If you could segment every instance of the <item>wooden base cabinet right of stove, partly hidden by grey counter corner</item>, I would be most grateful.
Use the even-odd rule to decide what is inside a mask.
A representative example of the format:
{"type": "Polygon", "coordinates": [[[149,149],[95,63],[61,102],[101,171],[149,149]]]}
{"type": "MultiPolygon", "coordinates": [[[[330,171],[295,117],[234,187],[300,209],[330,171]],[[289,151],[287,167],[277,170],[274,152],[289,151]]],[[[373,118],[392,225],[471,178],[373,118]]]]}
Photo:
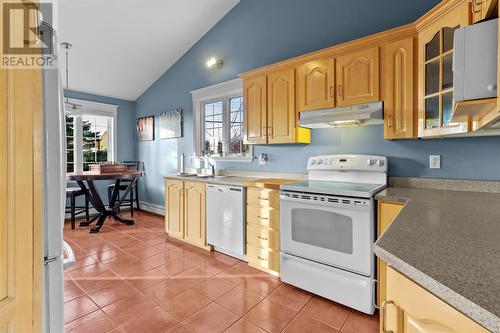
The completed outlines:
{"type": "MultiPolygon", "coordinates": [[[[379,238],[382,233],[389,227],[389,225],[391,225],[392,221],[399,214],[402,208],[403,204],[379,201],[377,216],[377,238],[379,238]]],[[[387,264],[383,260],[377,259],[377,304],[379,306],[385,301],[386,276],[387,264]]]]}

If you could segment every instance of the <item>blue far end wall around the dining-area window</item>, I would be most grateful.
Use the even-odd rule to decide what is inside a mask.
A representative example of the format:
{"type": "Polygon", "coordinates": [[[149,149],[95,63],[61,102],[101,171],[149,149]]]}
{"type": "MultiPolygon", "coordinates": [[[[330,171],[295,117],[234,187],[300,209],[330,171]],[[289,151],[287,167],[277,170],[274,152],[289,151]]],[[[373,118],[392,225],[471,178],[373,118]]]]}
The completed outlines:
{"type": "MultiPolygon", "coordinates": [[[[137,146],[135,140],[135,104],[117,98],[104,97],[99,95],[87,94],[78,91],[65,90],[64,95],[69,98],[78,98],[92,102],[100,102],[118,105],[117,111],[117,152],[116,158],[119,161],[134,161],[137,158],[137,146]]],[[[96,187],[101,194],[104,202],[108,201],[106,186],[110,182],[97,182],[96,187]]],[[[81,204],[79,202],[78,204],[81,204]]]]}

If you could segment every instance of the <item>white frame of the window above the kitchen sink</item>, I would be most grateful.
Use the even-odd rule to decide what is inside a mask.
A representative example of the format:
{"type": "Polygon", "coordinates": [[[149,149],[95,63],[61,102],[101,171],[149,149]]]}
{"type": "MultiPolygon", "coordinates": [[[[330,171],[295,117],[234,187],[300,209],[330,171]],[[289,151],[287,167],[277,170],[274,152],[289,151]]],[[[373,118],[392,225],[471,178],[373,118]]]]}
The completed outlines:
{"type": "MultiPolygon", "coordinates": [[[[234,79],[209,87],[191,91],[193,98],[193,158],[199,160],[214,160],[221,162],[246,162],[251,163],[253,157],[253,145],[249,145],[248,156],[226,155],[226,156],[204,156],[204,137],[205,137],[205,104],[222,101],[223,102],[223,128],[224,128],[224,154],[228,153],[230,138],[230,100],[243,97],[243,83],[241,79],[234,79]]],[[[243,109],[243,113],[245,109],[243,109]]],[[[243,116],[244,118],[244,116],[243,116]]]]}

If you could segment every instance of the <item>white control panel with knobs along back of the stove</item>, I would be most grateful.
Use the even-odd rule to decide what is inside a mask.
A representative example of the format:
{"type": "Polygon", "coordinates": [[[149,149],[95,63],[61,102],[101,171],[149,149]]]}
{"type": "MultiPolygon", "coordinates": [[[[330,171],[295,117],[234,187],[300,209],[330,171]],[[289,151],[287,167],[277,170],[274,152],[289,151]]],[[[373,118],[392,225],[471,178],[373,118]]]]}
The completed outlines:
{"type": "Polygon", "coordinates": [[[373,155],[321,155],[310,157],[307,170],[387,172],[387,157],[373,155]]]}

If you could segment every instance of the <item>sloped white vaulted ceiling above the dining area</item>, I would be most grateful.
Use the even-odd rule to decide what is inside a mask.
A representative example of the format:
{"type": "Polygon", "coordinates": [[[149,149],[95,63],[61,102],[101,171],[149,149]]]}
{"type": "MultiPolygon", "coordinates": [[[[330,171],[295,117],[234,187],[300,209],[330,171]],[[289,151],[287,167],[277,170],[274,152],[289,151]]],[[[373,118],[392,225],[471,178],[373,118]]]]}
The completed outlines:
{"type": "Polygon", "coordinates": [[[137,99],[238,1],[60,0],[70,89],[137,99]]]}

